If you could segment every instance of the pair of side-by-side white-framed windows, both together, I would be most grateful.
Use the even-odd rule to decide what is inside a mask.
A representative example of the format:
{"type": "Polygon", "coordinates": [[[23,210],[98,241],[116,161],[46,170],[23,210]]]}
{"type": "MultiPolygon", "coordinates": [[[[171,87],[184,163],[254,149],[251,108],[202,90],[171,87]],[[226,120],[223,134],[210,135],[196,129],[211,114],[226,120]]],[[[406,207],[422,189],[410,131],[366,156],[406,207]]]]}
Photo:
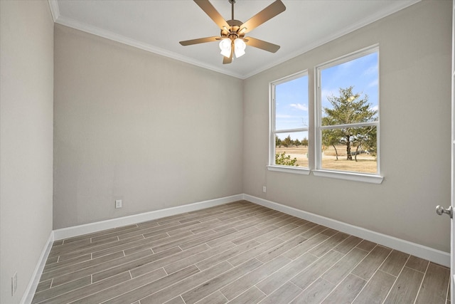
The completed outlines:
{"type": "Polygon", "coordinates": [[[314,70],[314,88],[306,72],[270,84],[269,170],[382,182],[379,47],[314,70]]]}

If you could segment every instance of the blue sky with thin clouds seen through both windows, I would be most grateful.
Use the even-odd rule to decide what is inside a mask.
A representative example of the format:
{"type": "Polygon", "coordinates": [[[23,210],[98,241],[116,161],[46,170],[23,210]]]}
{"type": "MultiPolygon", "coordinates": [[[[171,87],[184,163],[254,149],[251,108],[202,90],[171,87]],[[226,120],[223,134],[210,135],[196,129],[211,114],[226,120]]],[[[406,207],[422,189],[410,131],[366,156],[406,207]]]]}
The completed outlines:
{"type": "MultiPolygon", "coordinates": [[[[353,85],[353,93],[360,93],[362,98],[363,95],[368,95],[370,107],[373,110],[378,110],[378,77],[378,52],[322,70],[322,106],[325,108],[331,106],[328,103],[327,96],[337,96],[340,88],[348,88],[353,85]]],[[[275,130],[309,127],[307,75],[277,85],[275,96],[277,117],[275,130]]],[[[278,136],[283,139],[289,134],[287,132],[278,136]]],[[[293,140],[302,139],[302,133],[290,135],[293,140]]]]}

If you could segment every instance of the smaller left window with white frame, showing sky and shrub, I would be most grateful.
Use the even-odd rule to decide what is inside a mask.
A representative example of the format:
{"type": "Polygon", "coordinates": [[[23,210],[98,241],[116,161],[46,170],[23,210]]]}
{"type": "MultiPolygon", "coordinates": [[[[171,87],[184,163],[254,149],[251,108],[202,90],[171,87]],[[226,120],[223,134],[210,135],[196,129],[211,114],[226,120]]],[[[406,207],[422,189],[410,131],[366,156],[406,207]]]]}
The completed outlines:
{"type": "Polygon", "coordinates": [[[272,132],[270,164],[308,169],[309,111],[306,72],[277,80],[271,85],[272,132]]]}

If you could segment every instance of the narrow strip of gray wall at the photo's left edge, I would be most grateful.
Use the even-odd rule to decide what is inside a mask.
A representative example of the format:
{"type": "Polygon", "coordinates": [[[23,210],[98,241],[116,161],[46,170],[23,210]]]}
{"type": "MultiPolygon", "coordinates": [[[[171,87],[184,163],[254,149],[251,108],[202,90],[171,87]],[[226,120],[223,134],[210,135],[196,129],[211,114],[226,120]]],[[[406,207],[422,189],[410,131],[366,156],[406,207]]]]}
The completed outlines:
{"type": "Polygon", "coordinates": [[[52,231],[53,19],[0,1],[0,303],[19,303],[52,231]],[[11,277],[18,289],[11,297],[11,277]]]}

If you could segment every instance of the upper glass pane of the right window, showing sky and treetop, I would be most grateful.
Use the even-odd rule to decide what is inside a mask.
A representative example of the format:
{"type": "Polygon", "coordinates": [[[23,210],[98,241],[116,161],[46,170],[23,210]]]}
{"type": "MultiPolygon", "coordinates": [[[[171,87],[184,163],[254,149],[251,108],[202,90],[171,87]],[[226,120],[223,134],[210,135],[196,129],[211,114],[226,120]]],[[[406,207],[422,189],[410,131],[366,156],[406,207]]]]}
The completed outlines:
{"type": "Polygon", "coordinates": [[[321,125],[378,120],[378,52],[321,70],[321,125]]]}

